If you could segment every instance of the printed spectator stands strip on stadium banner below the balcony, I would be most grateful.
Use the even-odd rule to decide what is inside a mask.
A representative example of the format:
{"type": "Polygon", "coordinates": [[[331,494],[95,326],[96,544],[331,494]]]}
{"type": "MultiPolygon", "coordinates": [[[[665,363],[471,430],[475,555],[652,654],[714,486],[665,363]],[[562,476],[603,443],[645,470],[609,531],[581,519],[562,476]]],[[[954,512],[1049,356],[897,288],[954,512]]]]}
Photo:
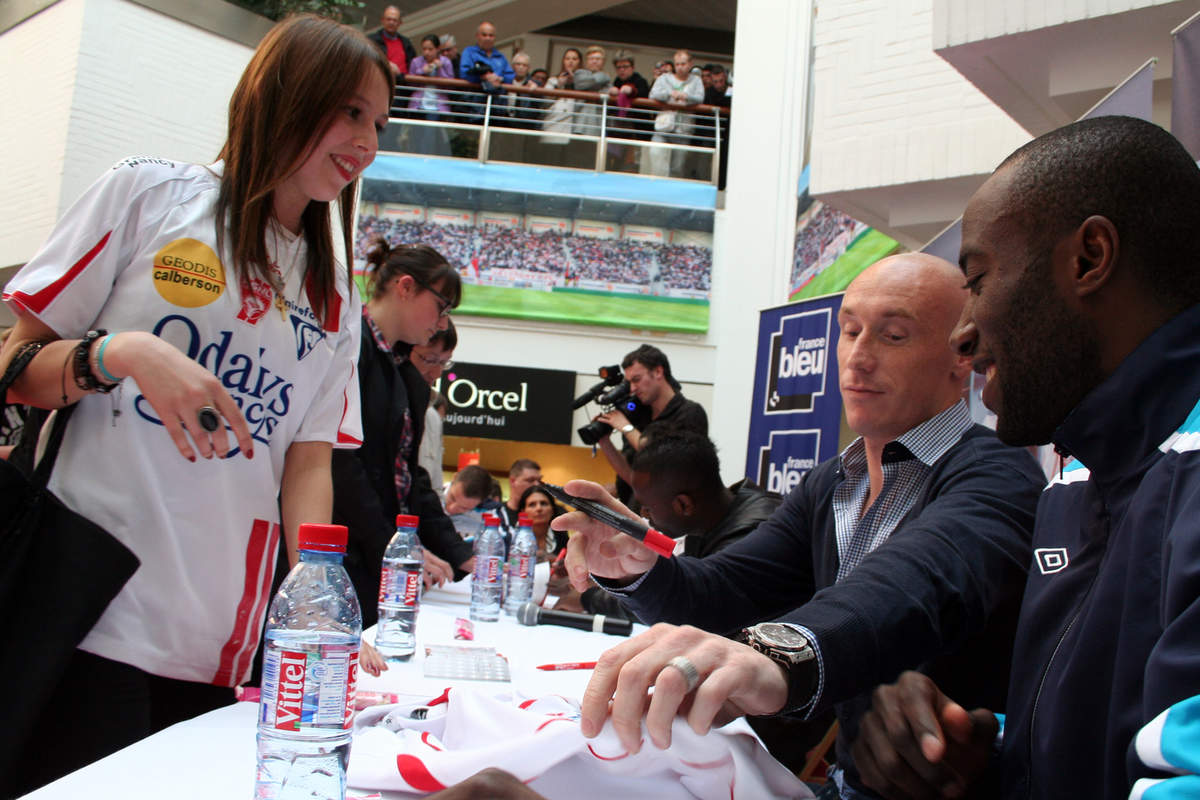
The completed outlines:
{"type": "Polygon", "coordinates": [[[667,289],[708,291],[713,255],[696,245],[659,245],[631,239],[596,239],[557,230],[528,231],[498,225],[406,222],[372,215],[359,218],[356,257],[365,258],[372,236],[389,243],[428,245],[460,272],[518,269],[560,276],[563,283],[580,279],[667,289]]]}

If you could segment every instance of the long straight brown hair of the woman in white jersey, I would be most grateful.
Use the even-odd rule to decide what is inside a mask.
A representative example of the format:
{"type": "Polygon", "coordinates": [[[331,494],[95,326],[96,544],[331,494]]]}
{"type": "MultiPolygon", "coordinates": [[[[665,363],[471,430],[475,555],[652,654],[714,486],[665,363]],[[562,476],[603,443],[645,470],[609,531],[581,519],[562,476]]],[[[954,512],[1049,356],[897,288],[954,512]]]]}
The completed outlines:
{"type": "MultiPolygon", "coordinates": [[[[282,289],[266,249],[274,192],[304,164],[370,70],[384,76],[391,97],[395,79],[383,52],[361,31],[313,14],[288,17],[254,50],[229,98],[216,207],[217,247],[224,252],[229,242],[242,282],[253,276],[282,289]]],[[[355,196],[356,182],[338,196],[348,276],[355,196]]],[[[324,319],[336,291],[329,203],[311,200],[300,227],[308,246],[305,285],[313,313],[324,319]]],[[[330,321],[336,323],[326,320],[326,326],[330,321]]]]}

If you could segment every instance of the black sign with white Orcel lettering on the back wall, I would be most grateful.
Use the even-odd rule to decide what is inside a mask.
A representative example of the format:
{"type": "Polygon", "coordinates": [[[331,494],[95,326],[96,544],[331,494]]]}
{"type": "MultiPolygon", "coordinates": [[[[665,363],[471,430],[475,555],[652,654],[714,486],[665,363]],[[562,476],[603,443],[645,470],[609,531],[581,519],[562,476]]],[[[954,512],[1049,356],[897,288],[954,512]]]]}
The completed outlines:
{"type": "Polygon", "coordinates": [[[574,372],[455,361],[433,387],[449,405],[444,435],[571,443],[574,372]]]}

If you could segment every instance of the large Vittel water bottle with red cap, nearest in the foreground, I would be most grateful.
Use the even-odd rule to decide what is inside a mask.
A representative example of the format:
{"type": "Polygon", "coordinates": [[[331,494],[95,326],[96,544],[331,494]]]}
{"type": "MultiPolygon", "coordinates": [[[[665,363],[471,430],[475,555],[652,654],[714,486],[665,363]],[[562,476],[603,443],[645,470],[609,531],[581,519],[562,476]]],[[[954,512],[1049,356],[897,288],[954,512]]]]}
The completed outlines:
{"type": "Polygon", "coordinates": [[[300,525],[300,563],[266,618],[256,800],[346,798],[362,612],[344,525],[300,525]]]}

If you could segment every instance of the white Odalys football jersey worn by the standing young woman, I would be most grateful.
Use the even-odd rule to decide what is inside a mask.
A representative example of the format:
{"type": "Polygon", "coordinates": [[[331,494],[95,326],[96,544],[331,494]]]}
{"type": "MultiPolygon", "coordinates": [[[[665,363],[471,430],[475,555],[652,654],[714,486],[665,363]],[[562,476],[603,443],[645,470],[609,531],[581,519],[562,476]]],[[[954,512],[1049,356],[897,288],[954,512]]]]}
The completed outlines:
{"type": "Polygon", "coordinates": [[[220,169],[120,162],[67,211],[5,300],[64,338],[152,331],[217,374],[240,404],[253,459],[190,463],[126,379],[119,392],[79,402],[50,482],[142,560],[80,646],[154,674],[233,686],[248,673],[270,601],[288,445],[361,440],[360,301],[338,265],[337,295],[318,319],[302,285],[302,237],[282,230],[266,235],[287,281],[282,311],[266,282],[244,293],[230,259],[215,252],[220,169]]]}

